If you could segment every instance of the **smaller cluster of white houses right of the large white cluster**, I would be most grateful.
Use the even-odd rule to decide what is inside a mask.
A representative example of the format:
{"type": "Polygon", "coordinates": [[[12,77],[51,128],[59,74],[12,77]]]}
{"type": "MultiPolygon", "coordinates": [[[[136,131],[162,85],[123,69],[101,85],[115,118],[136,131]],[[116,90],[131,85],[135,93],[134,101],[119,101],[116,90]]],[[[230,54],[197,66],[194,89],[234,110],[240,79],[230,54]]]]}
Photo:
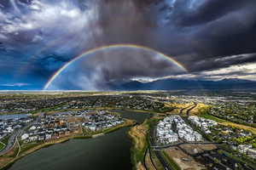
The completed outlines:
{"type": "Polygon", "coordinates": [[[211,133],[209,127],[217,126],[218,123],[209,119],[205,119],[198,116],[189,116],[189,121],[195,124],[196,127],[200,127],[204,133],[211,133]]]}

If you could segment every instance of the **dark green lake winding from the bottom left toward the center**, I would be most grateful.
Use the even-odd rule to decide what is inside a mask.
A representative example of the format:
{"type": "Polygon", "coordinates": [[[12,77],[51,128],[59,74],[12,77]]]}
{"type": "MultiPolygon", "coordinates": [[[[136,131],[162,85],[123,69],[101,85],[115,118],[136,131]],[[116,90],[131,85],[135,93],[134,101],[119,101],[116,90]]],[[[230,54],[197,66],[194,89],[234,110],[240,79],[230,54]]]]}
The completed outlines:
{"type": "MultiPolygon", "coordinates": [[[[121,111],[125,118],[141,123],[149,115],[121,111]]],[[[28,155],[10,167],[10,170],[130,170],[131,140],[129,127],[108,133],[96,139],[72,139],[28,155]]]]}

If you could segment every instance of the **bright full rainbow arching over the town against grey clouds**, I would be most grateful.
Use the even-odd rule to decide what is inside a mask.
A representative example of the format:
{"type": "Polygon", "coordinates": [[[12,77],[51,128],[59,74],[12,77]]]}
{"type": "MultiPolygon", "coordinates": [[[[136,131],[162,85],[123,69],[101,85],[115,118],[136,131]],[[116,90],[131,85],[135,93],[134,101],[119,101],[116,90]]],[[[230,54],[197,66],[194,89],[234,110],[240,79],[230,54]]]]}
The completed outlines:
{"type": "Polygon", "coordinates": [[[163,56],[165,59],[168,59],[169,61],[171,61],[172,63],[174,63],[175,65],[177,65],[179,68],[181,68],[183,71],[188,72],[188,70],[185,68],[185,66],[183,66],[181,63],[179,63],[177,60],[172,59],[171,57],[167,56],[166,54],[162,54],[159,51],[156,51],[153,48],[148,48],[148,47],[144,47],[144,46],[140,46],[140,45],[134,45],[134,44],[114,44],[114,45],[108,45],[108,46],[102,46],[99,48],[92,48],[86,52],[84,52],[83,54],[80,54],[79,56],[75,57],[74,59],[70,60],[69,62],[67,62],[67,64],[63,65],[61,67],[61,69],[59,69],[58,71],[56,71],[52,77],[49,78],[49,81],[46,82],[46,84],[44,85],[44,90],[46,90],[47,88],[49,88],[49,85],[51,84],[51,82],[53,82],[55,80],[56,77],[58,77],[62,71],[64,71],[68,65],[72,65],[73,62],[77,61],[78,59],[83,58],[84,56],[88,55],[88,54],[93,54],[97,51],[100,50],[104,50],[104,49],[109,49],[109,48],[141,48],[143,50],[147,50],[149,52],[153,52],[155,54],[159,54],[160,56],[163,56]]]}

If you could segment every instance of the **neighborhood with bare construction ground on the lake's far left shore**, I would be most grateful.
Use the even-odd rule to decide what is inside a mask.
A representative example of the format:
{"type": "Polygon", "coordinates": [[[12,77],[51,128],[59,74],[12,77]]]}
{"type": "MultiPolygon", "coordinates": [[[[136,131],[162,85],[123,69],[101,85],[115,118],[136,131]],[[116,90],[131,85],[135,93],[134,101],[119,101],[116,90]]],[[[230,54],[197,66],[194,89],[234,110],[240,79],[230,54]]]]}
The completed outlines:
{"type": "Polygon", "coordinates": [[[90,131],[99,131],[125,122],[122,118],[110,115],[106,111],[65,111],[43,116],[21,135],[23,142],[59,139],[70,134],[82,133],[83,127],[90,131]]]}

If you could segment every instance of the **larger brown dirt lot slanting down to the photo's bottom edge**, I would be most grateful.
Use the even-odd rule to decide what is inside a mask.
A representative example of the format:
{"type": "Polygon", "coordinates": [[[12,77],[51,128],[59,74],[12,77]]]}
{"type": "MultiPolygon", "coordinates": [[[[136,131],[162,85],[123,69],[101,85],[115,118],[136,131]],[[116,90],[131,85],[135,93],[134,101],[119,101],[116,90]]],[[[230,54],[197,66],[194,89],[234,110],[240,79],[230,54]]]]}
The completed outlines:
{"type": "Polygon", "coordinates": [[[172,157],[173,161],[176,161],[177,165],[183,170],[201,170],[205,169],[204,166],[195,161],[193,157],[186,155],[182,150],[177,147],[172,147],[165,150],[168,156],[172,157]]]}

